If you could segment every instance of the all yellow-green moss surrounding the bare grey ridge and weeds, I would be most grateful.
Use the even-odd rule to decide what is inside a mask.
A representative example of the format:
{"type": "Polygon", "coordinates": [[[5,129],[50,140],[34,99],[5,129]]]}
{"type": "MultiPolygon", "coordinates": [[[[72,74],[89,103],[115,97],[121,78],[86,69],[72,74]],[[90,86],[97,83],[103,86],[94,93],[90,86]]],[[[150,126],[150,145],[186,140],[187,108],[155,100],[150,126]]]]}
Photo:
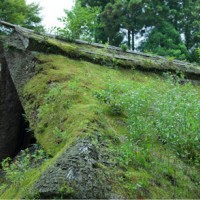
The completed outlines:
{"type": "MultiPolygon", "coordinates": [[[[49,42],[67,51],[70,57],[77,55],[77,47],[74,44],[59,44],[53,39],[49,42]]],[[[125,61],[121,64],[119,61],[118,64],[130,65],[130,70],[115,70],[59,55],[39,54],[37,58],[40,61],[36,66],[37,74],[24,87],[23,104],[37,142],[53,159],[40,168],[28,170],[20,188],[10,186],[0,195],[1,199],[28,197],[31,194],[29,188],[32,188],[40,175],[63,151],[78,138],[92,136],[96,132],[106,140],[110,154],[116,156],[113,158],[116,166],[110,168],[97,163],[97,167],[113,174],[117,181],[111,183],[119,195],[126,198],[173,198],[172,194],[175,194],[176,198],[199,197],[195,185],[199,179],[194,180],[197,169],[191,169],[188,173],[183,170],[186,165],[181,161],[169,167],[167,155],[172,153],[160,148],[157,143],[154,155],[157,160],[162,155],[161,165],[124,165],[123,158],[120,160],[120,149],[128,136],[126,115],[112,115],[108,107],[95,96],[96,92],[105,89],[109,83],[124,84],[134,90],[156,81],[157,87],[163,91],[163,80],[153,73],[133,70],[133,64],[125,61]],[[187,192],[188,189],[190,193],[187,192]]],[[[101,56],[93,59],[102,63],[108,62],[101,56]]],[[[93,143],[98,145],[95,140],[93,143]]],[[[67,185],[61,186],[60,190],[64,196],[70,196],[74,192],[67,185]]]]}

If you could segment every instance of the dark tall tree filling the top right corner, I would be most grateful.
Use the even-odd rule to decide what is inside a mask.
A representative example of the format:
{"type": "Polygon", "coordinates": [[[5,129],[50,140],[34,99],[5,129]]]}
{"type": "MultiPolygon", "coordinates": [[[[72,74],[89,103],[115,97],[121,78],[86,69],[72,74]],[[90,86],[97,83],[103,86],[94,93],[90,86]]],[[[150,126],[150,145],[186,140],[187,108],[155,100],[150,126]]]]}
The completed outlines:
{"type": "Polygon", "coordinates": [[[200,0],[146,0],[147,26],[157,27],[163,22],[174,26],[189,50],[199,41],[200,0]]]}

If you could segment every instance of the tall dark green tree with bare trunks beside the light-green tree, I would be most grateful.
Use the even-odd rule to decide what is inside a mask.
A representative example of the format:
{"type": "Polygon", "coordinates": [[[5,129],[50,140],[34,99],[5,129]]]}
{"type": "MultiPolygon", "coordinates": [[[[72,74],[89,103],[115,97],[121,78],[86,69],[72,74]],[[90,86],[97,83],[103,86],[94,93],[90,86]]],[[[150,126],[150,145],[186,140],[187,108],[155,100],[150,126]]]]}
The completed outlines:
{"type": "MultiPolygon", "coordinates": [[[[116,34],[120,30],[127,30],[128,46],[135,49],[135,34],[143,27],[142,0],[116,0],[114,4],[107,4],[101,14],[103,27],[109,36],[110,44],[116,43],[116,34]],[[132,41],[132,42],[131,42],[132,41]]],[[[118,40],[118,42],[122,42],[118,40]]]]}

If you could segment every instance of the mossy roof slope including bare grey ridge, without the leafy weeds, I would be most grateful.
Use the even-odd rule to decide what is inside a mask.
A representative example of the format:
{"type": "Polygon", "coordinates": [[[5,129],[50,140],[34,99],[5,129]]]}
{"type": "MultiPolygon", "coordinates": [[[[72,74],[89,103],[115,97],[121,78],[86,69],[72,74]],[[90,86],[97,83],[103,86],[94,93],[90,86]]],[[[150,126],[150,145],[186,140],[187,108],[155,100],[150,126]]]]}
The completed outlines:
{"type": "MultiPolygon", "coordinates": [[[[152,84],[163,90],[164,78],[59,55],[37,58],[37,75],[26,84],[23,97],[37,142],[51,158],[27,168],[22,179],[11,177],[1,199],[200,197],[198,167],[184,163],[158,139],[152,139],[153,159],[141,155],[139,164],[136,157],[126,162],[133,156],[131,147],[130,155],[124,155],[129,148],[123,149],[130,134],[126,113],[98,100],[105,88],[118,84],[132,91],[152,84]]],[[[111,98],[108,94],[105,102],[106,97],[111,98]]]]}

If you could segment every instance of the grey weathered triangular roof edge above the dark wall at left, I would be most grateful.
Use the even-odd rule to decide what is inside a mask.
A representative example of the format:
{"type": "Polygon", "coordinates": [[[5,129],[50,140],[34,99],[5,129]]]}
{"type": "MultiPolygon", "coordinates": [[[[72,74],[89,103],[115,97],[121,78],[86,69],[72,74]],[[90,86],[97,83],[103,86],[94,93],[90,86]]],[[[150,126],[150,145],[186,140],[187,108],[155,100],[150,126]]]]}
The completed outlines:
{"type": "Polygon", "coordinates": [[[26,49],[27,40],[18,33],[14,33],[7,38],[7,49],[5,49],[8,68],[21,101],[23,101],[21,97],[24,84],[35,75],[36,61],[32,52],[26,49]]]}

